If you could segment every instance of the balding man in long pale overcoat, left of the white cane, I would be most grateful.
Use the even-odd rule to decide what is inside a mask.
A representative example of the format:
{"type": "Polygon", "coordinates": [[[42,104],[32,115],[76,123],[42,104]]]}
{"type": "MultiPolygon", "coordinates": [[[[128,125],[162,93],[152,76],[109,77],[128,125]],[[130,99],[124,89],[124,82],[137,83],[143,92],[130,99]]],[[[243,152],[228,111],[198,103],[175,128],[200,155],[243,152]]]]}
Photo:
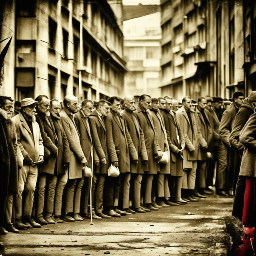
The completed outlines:
{"type": "MultiPolygon", "coordinates": [[[[87,160],[80,145],[80,135],[74,120],[78,112],[78,99],[74,95],[66,95],[63,100],[64,109],[60,112],[60,120],[66,133],[70,147],[70,163],[68,168],[68,182],[66,185],[66,209],[64,221],[75,221],[70,214],[80,212],[81,189],[76,186],[77,179],[82,178],[82,167],[87,160]]],[[[80,218],[82,219],[82,218],[80,218]]]]}

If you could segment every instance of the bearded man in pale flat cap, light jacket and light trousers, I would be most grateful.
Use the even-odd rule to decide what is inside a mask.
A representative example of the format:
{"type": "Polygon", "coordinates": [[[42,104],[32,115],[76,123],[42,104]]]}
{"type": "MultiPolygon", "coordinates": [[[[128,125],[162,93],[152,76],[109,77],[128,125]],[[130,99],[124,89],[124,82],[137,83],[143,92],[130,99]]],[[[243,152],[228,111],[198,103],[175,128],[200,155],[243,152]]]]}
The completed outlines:
{"type": "Polygon", "coordinates": [[[18,173],[19,189],[14,203],[15,226],[18,229],[41,227],[31,217],[38,173],[37,165],[44,161],[44,146],[35,116],[36,104],[37,101],[32,98],[23,99],[20,113],[12,118],[16,126],[18,146],[24,157],[23,166],[18,173]],[[25,198],[22,198],[24,188],[26,194],[25,198]],[[24,201],[23,209],[22,200],[24,201]]]}

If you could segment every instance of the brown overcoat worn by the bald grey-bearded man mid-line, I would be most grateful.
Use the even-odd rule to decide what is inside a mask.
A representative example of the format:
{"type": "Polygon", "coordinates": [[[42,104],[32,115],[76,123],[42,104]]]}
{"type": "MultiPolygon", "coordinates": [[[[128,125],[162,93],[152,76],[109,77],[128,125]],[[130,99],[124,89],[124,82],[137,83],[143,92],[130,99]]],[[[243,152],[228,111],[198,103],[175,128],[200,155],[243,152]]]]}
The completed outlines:
{"type": "Polygon", "coordinates": [[[131,136],[134,147],[138,153],[138,164],[130,161],[130,172],[144,174],[145,164],[143,161],[148,161],[148,154],[145,146],[145,139],[142,128],[140,127],[136,114],[128,112],[124,109],[121,112],[122,116],[126,121],[127,130],[131,136]]]}

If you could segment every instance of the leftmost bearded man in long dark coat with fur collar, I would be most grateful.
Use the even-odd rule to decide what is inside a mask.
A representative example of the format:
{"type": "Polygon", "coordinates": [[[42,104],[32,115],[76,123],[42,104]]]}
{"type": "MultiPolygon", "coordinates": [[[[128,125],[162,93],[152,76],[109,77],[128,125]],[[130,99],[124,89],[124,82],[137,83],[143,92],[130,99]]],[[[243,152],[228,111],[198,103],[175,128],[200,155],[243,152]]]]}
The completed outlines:
{"type": "MultiPolygon", "coordinates": [[[[6,200],[6,195],[3,195],[1,193],[1,201],[2,202],[6,202],[6,207],[3,205],[1,205],[1,210],[5,209],[5,216],[4,216],[4,228],[9,231],[9,232],[15,232],[18,233],[18,229],[14,228],[13,224],[12,224],[12,202],[13,202],[13,196],[14,194],[16,194],[18,192],[18,163],[17,163],[17,148],[18,148],[18,144],[17,144],[17,136],[16,136],[16,128],[15,125],[13,123],[13,121],[11,120],[11,115],[12,115],[12,111],[13,111],[13,100],[10,97],[6,97],[6,96],[0,96],[0,123],[1,126],[3,126],[3,135],[6,136],[6,141],[7,141],[7,148],[5,149],[10,157],[6,158],[6,161],[9,161],[10,164],[10,168],[4,170],[3,172],[1,172],[1,176],[4,174],[7,174],[7,176],[9,177],[1,177],[1,178],[5,178],[2,179],[2,181],[6,184],[2,184],[1,189],[4,190],[4,188],[6,188],[6,186],[8,186],[8,190],[7,190],[7,200],[6,200]],[[6,179],[7,178],[7,179],[6,179]]],[[[1,140],[1,142],[3,143],[4,140],[1,140]]],[[[1,146],[2,146],[1,143],[1,146]]],[[[3,152],[4,155],[4,152],[3,152]]],[[[2,162],[1,162],[1,166],[6,167],[2,162]]],[[[2,216],[1,216],[2,217],[2,216]]],[[[6,234],[6,230],[4,230],[4,228],[2,227],[2,220],[1,220],[1,224],[0,224],[1,228],[0,228],[0,234],[6,234]]]]}

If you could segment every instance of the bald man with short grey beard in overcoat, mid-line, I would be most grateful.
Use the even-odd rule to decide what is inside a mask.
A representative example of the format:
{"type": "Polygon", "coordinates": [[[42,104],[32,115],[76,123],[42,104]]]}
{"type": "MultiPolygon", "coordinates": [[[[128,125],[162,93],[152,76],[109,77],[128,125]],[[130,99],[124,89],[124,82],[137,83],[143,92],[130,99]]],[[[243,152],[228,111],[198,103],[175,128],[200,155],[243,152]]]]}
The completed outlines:
{"type": "Polygon", "coordinates": [[[135,99],[132,96],[124,97],[124,110],[121,112],[122,116],[126,120],[127,130],[130,133],[132,142],[138,153],[138,164],[130,159],[130,172],[131,172],[131,191],[132,206],[135,212],[146,212],[142,210],[140,205],[140,190],[142,177],[144,175],[145,165],[148,162],[148,154],[146,151],[144,134],[140,127],[137,116],[134,114],[136,110],[135,99]]]}

